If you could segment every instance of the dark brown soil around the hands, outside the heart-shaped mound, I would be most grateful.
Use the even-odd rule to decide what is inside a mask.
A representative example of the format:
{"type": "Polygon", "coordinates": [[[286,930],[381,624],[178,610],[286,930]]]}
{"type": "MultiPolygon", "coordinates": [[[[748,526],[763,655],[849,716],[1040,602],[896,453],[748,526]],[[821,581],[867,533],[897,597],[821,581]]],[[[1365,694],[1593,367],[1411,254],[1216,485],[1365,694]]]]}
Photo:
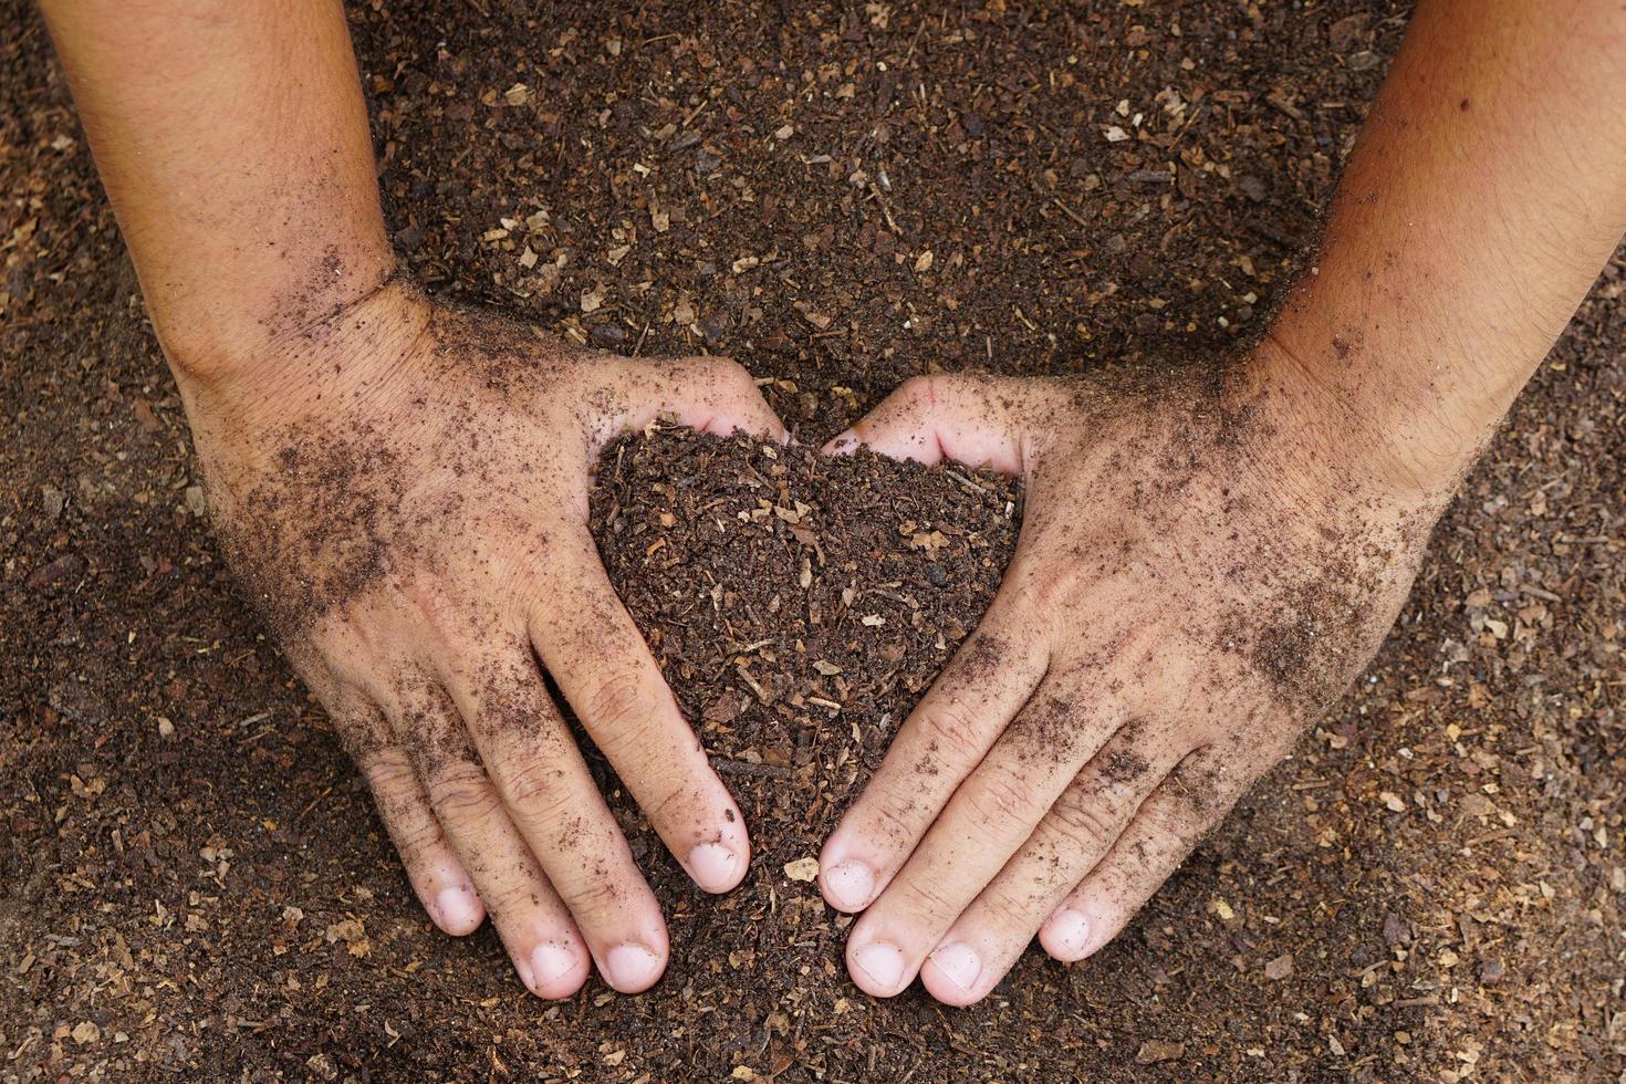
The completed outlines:
{"type": "MultiPolygon", "coordinates": [[[[668,894],[706,967],[546,1004],[429,926],[231,587],[44,29],[0,13],[0,1077],[1626,1079],[1619,255],[1367,674],[1114,946],[875,1003],[759,865],[826,926],[805,983],[668,894]]],[[[418,281],[730,353],[805,440],[915,372],[1246,343],[1405,15],[351,5],[418,281]]]]}

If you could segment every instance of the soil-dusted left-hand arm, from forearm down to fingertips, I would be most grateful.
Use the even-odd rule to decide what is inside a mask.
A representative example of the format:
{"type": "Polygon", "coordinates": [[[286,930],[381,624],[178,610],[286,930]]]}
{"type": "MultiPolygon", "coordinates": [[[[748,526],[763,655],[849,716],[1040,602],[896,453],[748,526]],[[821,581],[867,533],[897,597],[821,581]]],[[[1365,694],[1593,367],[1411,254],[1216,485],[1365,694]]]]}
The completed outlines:
{"type": "Polygon", "coordinates": [[[345,8],[47,0],[223,548],[449,933],[525,985],[644,990],[660,907],[546,679],[694,881],[745,824],[587,533],[624,426],[782,437],[720,359],[592,356],[393,278],[345,8]],[[187,57],[187,63],[154,63],[187,57]]]}

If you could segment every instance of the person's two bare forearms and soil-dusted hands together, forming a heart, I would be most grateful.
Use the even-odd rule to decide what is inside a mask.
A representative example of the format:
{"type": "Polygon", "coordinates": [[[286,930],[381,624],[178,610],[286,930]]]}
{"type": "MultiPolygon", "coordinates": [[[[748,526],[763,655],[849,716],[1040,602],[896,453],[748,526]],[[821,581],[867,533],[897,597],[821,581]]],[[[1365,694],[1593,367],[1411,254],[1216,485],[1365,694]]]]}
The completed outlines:
{"type": "MultiPolygon", "coordinates": [[[[647,988],[660,907],[541,674],[698,884],[750,843],[598,567],[587,470],[659,413],[782,426],[732,362],[595,356],[398,283],[332,0],[42,7],[223,548],[428,913],[489,913],[540,996],[593,965],[647,988]]],[[[1028,488],[998,598],[824,845],[860,988],[971,1004],[1034,936],[1099,951],[1353,679],[1626,229],[1621,85],[1621,0],[1424,0],[1247,358],[924,377],[831,442],[1028,488]]]]}

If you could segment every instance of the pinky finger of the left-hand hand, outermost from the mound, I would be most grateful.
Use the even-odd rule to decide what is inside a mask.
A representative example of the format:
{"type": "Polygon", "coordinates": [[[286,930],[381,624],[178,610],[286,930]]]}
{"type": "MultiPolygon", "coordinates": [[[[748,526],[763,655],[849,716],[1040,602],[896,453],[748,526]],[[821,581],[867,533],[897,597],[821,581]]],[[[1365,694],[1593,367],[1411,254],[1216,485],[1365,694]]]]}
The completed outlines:
{"type": "Polygon", "coordinates": [[[400,746],[384,746],[356,759],[372,788],[379,817],[406,866],[413,891],[436,926],[454,936],[473,933],[485,921],[486,908],[473,881],[441,822],[429,809],[429,798],[400,746]]]}

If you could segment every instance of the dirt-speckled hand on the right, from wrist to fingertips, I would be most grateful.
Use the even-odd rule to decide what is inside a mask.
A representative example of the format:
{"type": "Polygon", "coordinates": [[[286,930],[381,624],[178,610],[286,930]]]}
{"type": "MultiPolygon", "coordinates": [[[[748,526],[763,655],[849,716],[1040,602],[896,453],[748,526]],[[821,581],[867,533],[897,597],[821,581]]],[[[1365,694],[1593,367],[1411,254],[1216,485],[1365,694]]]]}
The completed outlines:
{"type": "Polygon", "coordinates": [[[1377,648],[1444,484],[1273,366],[919,377],[826,447],[1026,479],[998,596],[820,856],[862,990],[971,1004],[1036,931],[1098,951],[1377,648]]]}

